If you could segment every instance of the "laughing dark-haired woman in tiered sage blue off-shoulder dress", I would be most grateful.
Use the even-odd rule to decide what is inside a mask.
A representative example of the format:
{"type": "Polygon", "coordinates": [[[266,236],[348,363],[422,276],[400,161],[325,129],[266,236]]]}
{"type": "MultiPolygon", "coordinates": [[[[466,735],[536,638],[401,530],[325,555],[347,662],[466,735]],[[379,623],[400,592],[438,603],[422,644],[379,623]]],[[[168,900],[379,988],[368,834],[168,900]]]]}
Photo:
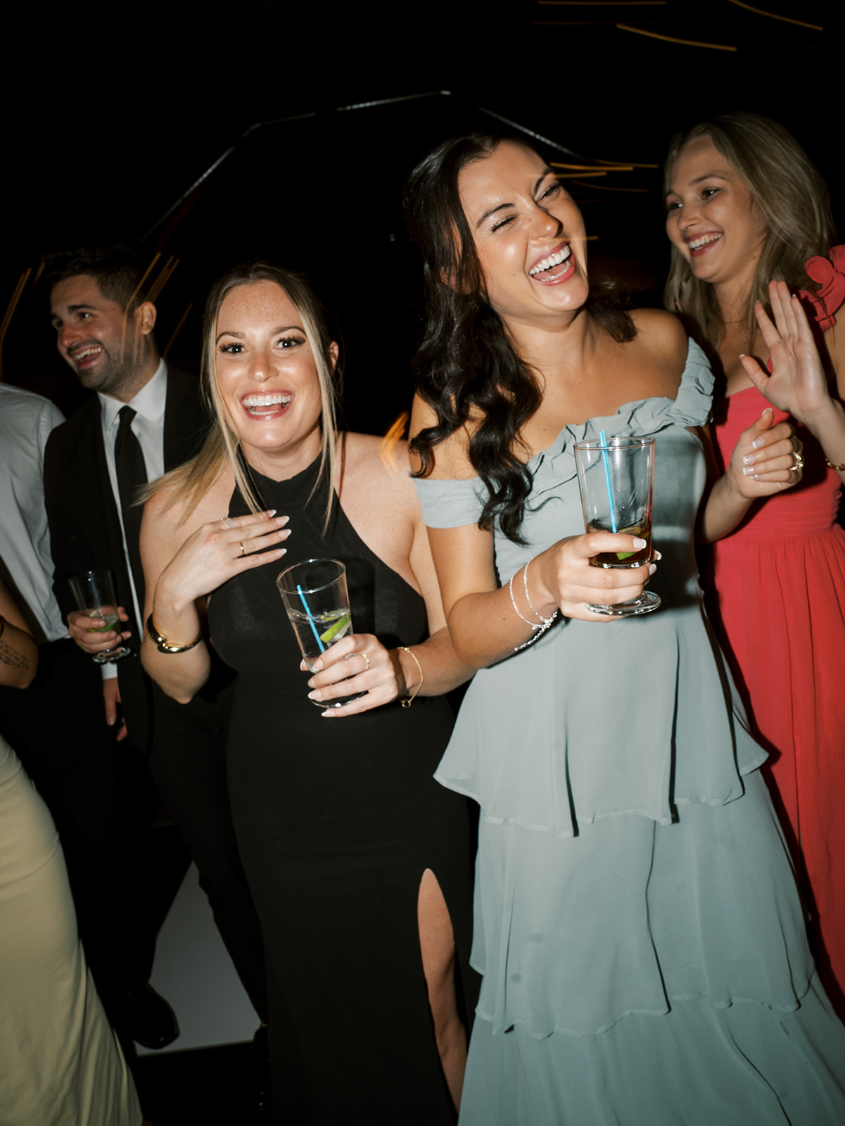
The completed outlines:
{"type": "Polygon", "coordinates": [[[406,213],[430,301],[419,493],[480,670],[438,769],[482,806],[461,1126],[840,1124],[845,1028],[693,551],[696,520],[718,536],[800,477],[791,428],[765,413],[707,481],[703,354],[668,313],[591,300],[581,213],[524,144],[446,142],[406,213]],[[640,570],[590,565],[646,546],[584,534],[573,445],[602,431],[656,439],[640,570]],[[647,580],[653,614],[587,607],[647,580]]]}

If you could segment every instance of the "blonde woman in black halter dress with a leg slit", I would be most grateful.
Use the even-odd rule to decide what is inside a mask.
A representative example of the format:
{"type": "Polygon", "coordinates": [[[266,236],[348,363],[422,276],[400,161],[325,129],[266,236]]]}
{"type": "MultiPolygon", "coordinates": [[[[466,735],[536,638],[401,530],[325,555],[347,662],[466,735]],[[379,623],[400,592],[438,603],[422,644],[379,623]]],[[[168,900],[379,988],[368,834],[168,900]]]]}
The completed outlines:
{"type": "Polygon", "coordinates": [[[303,279],[260,266],[215,286],[216,427],[146,507],[143,659],[177,699],[199,691],[208,606],[240,672],[230,788],[268,953],[277,1114],[298,1087],[305,1120],[433,1126],[462,1082],[470,861],[466,805],[432,774],[452,725],[442,694],[469,670],[404,448],[335,432],[336,358],[303,279]],[[316,556],[347,564],[356,633],[308,679],[275,579],[316,556]]]}

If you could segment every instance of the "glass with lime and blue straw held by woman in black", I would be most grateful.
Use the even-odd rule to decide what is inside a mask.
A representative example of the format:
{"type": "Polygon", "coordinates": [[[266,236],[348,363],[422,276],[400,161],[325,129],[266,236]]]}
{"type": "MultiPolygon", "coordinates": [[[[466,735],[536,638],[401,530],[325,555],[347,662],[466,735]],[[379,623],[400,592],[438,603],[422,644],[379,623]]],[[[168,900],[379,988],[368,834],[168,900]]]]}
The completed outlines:
{"type": "MultiPolygon", "coordinates": [[[[309,672],[331,645],[352,633],[347,592],[347,569],[339,560],[305,560],[287,568],[276,580],[288,620],[299,642],[309,672]]],[[[312,700],[317,707],[343,707],[365,692],[331,700],[312,700]]]]}

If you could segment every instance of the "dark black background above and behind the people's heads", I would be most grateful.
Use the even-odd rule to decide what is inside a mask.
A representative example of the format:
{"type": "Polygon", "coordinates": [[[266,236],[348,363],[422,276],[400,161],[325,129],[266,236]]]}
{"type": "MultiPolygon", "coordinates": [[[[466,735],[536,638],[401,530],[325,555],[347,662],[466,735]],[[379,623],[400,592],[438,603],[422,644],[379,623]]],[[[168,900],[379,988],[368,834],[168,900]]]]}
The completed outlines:
{"type": "Polygon", "coordinates": [[[502,119],[552,161],[636,166],[566,182],[591,275],[659,304],[659,166],[675,131],[734,108],[775,117],[840,206],[839,26],[826,6],[758,8],[771,15],[731,0],[24,12],[3,78],[3,378],[65,411],[80,401],[38,277],[50,250],[123,241],[161,254],[155,272],[178,260],[158,339],[192,370],[209,284],[269,256],[311,274],[336,316],[349,425],[384,431],[410,401],[421,315],[403,182],[443,137],[502,119]]]}

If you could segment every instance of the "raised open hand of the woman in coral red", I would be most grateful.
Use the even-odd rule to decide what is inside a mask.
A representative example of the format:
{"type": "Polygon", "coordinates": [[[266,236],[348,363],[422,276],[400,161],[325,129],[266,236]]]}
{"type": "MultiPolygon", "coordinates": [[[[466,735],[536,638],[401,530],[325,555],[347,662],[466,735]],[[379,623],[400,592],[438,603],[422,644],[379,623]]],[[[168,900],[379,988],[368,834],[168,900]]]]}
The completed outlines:
{"type": "Polygon", "coordinates": [[[772,372],[764,372],[753,356],[740,357],[741,364],[752,383],[773,406],[810,425],[813,415],[830,405],[827,376],[816,341],[801,302],[790,296],[785,282],[770,282],[768,300],[774,324],[759,302],[754,306],[754,314],[768,348],[772,372]]]}

